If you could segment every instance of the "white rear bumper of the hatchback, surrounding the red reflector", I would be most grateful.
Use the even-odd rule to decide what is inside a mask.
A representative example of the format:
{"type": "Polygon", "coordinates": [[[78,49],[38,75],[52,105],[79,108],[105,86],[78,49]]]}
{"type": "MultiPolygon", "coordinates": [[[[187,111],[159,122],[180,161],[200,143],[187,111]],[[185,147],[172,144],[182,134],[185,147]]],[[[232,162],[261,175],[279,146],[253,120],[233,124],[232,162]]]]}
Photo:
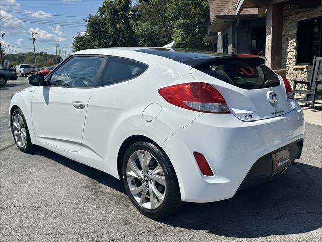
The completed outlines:
{"type": "MultiPolygon", "coordinates": [[[[244,180],[254,178],[253,165],[258,162],[261,166],[261,161],[268,159],[273,151],[299,141],[303,143],[304,129],[303,113],[298,105],[282,116],[254,122],[243,122],[233,114],[204,113],[169,137],[162,148],[176,171],[181,199],[213,202],[233,197],[244,187],[241,186],[244,180]],[[194,151],[204,155],[214,176],[202,175],[194,151]]],[[[295,159],[297,152],[290,150],[291,158],[295,159]]],[[[269,164],[272,166],[271,161],[269,164]]],[[[274,178],[270,170],[265,172],[254,176],[274,178]]]]}

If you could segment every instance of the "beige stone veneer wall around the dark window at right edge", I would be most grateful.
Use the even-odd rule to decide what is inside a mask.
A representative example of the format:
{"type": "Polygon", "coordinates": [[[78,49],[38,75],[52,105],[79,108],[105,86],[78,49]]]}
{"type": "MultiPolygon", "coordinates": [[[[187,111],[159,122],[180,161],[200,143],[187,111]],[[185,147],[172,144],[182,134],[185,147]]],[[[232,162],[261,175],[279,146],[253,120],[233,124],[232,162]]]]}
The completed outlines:
{"type": "Polygon", "coordinates": [[[310,80],[312,66],[297,65],[296,63],[297,23],[318,16],[322,16],[322,6],[283,18],[282,68],[286,69],[286,78],[290,81],[310,80]]]}

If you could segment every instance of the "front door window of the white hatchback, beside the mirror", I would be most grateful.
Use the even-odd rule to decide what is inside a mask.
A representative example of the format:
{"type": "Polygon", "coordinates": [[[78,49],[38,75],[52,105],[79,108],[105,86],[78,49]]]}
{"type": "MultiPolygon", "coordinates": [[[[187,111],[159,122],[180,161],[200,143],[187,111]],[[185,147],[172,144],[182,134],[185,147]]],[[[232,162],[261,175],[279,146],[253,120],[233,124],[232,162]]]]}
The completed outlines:
{"type": "Polygon", "coordinates": [[[52,74],[50,85],[92,87],[102,61],[102,57],[73,57],[52,74]]]}

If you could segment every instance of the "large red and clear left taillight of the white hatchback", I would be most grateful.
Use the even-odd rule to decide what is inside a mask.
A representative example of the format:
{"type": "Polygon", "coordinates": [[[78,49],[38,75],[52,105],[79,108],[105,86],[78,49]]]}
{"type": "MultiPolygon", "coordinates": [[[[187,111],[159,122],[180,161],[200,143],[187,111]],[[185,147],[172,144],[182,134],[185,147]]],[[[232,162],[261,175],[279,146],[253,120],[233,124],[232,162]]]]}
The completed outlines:
{"type": "Polygon", "coordinates": [[[206,113],[230,113],[225,99],[208,83],[190,82],[158,90],[169,103],[206,113]]]}

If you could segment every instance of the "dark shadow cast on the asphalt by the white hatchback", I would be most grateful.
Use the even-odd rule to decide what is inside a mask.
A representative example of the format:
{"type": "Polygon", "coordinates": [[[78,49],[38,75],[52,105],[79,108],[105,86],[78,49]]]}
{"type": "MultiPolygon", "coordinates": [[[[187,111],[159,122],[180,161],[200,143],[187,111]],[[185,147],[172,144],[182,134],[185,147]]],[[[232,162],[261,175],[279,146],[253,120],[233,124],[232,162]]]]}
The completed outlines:
{"type": "MultiPolygon", "coordinates": [[[[47,149],[33,153],[58,162],[125,194],[121,182],[97,169],[47,149]]],[[[183,208],[158,222],[233,238],[300,234],[322,227],[322,169],[294,162],[269,183],[238,191],[227,200],[185,203],[183,208]]],[[[143,216],[143,215],[142,215],[143,216]]]]}

